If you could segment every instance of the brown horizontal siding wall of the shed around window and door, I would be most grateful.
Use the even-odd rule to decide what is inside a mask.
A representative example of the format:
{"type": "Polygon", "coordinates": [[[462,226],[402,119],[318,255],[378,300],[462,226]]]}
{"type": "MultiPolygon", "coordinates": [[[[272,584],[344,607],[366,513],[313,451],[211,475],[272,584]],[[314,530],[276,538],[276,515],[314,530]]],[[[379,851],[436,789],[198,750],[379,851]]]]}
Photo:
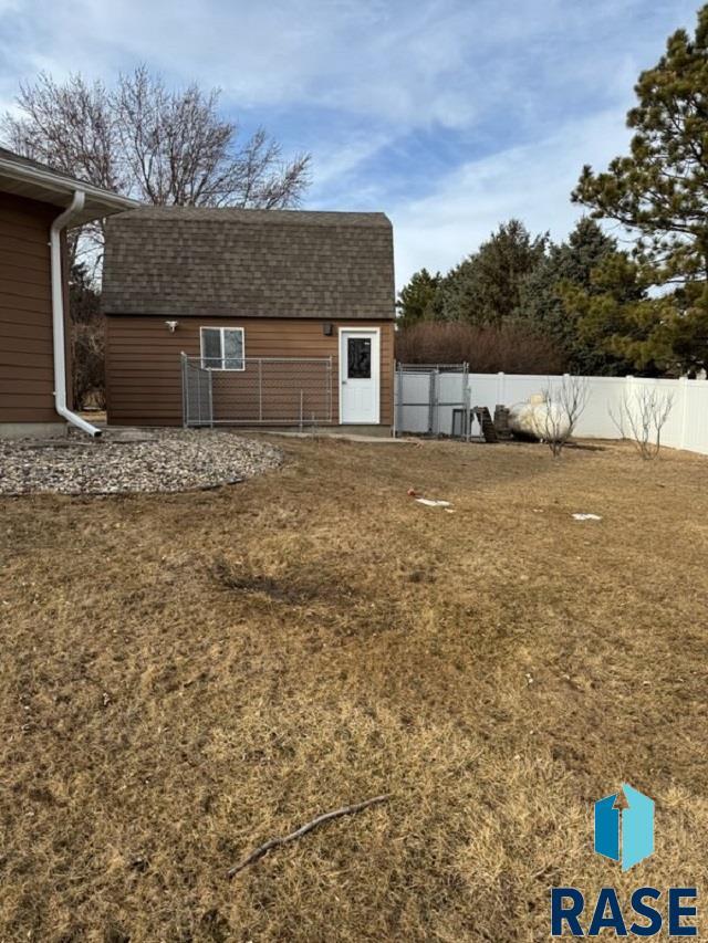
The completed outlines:
{"type": "Polygon", "coordinates": [[[327,318],[181,317],[170,333],[165,316],[106,317],[106,398],[108,423],[181,426],[180,354],[199,356],[200,327],[242,327],[247,357],[332,357],[333,415],[339,417],[337,327],[381,329],[381,423],[393,423],[393,321],[327,318]],[[322,325],[334,325],[331,336],[322,325]]]}

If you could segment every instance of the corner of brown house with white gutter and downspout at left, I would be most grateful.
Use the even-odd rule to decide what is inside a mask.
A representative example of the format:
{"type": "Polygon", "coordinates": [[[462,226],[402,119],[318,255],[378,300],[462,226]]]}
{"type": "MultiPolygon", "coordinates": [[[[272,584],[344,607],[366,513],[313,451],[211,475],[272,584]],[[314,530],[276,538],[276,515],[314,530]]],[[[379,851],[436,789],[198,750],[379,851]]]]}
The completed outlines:
{"type": "Polygon", "coordinates": [[[0,434],[82,425],[71,412],[65,227],[134,206],[0,148],[0,434]]]}

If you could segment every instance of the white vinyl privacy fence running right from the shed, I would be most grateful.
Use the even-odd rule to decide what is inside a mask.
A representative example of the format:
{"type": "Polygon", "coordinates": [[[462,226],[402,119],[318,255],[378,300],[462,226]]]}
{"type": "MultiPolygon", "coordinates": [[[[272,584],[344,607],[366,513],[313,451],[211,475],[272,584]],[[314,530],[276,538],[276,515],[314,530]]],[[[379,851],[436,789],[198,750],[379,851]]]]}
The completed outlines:
{"type": "MultiPolygon", "coordinates": [[[[486,406],[494,415],[494,406],[516,406],[533,394],[563,383],[562,376],[533,376],[519,374],[469,374],[469,405],[486,406]]],[[[583,439],[620,439],[611,411],[621,415],[623,401],[632,400],[643,389],[656,390],[657,396],[673,396],[671,411],[662,430],[662,443],[674,449],[708,454],[708,380],[667,380],[646,377],[587,377],[589,397],[574,434],[583,439]]],[[[457,387],[461,374],[447,374],[444,383],[457,387]]],[[[404,374],[399,380],[397,399],[403,406],[396,411],[397,431],[423,432],[424,417],[419,407],[405,404],[416,401],[424,392],[424,379],[416,374],[404,374]]],[[[451,410],[446,409],[439,419],[439,432],[450,434],[451,410]]],[[[478,431],[477,429],[472,430],[478,431]]],[[[629,431],[627,430],[627,434],[629,431]]]]}

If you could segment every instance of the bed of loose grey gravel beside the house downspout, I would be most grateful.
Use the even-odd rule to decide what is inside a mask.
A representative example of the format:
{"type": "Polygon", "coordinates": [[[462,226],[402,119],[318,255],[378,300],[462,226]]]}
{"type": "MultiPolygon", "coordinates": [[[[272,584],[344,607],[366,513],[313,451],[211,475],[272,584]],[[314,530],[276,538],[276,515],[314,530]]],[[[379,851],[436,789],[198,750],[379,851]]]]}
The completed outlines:
{"type": "Polygon", "coordinates": [[[211,430],[0,440],[0,494],[195,491],[235,484],[281,461],[282,453],[267,442],[211,430]]]}

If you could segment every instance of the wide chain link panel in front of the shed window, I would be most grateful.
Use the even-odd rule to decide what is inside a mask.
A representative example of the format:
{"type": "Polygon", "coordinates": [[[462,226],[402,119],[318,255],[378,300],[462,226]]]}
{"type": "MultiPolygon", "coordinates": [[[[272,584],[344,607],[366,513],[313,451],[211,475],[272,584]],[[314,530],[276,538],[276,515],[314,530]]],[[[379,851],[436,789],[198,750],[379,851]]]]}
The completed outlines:
{"type": "Polygon", "coordinates": [[[212,369],[181,355],[185,427],[332,423],[332,357],[243,357],[241,364],[212,369]]]}

